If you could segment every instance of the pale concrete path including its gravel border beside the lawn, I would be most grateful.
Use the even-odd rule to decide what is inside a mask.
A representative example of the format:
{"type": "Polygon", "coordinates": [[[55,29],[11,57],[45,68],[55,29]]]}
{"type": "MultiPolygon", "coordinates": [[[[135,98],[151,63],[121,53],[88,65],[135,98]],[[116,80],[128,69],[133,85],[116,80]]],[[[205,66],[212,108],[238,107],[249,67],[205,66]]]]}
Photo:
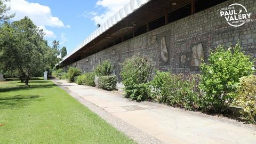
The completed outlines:
{"type": "Polygon", "coordinates": [[[87,105],[94,113],[139,143],[256,144],[255,125],[246,125],[232,119],[185,111],[159,103],[130,101],[118,92],[70,84],[65,80],[55,79],[53,82],[71,95],[75,94],[75,98],[80,102],[85,100],[90,103],[90,107],[92,104],[97,106],[109,115],[110,120],[87,105]],[[119,123],[122,124],[116,125],[111,121],[113,118],[119,119],[119,123]],[[131,128],[127,128],[127,124],[131,128]],[[122,125],[126,125],[126,128],[122,129],[122,125]],[[134,132],[135,129],[138,129],[138,135],[134,132]]]}

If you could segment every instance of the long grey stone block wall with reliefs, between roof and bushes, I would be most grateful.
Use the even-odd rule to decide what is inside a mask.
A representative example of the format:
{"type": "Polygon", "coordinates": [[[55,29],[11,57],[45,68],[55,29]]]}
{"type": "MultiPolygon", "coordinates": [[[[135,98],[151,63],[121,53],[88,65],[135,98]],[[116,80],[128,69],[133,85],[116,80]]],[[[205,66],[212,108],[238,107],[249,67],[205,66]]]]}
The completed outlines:
{"type": "Polygon", "coordinates": [[[255,19],[255,0],[230,0],[92,54],[70,66],[85,73],[103,60],[109,60],[114,63],[119,78],[121,63],[139,54],[153,59],[159,70],[199,73],[201,59],[207,59],[209,50],[219,44],[235,44],[239,39],[246,54],[256,57],[255,19]],[[252,21],[241,27],[229,26],[225,18],[220,17],[219,9],[233,3],[244,5],[252,13],[252,21]]]}

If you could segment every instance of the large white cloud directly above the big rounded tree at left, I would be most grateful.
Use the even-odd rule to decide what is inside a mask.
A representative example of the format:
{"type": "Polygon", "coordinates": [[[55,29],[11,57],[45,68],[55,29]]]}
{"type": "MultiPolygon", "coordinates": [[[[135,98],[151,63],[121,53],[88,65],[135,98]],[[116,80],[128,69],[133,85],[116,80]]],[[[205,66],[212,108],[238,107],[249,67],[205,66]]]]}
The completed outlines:
{"type": "Polygon", "coordinates": [[[49,6],[29,3],[25,0],[12,0],[10,7],[10,12],[15,13],[13,20],[28,16],[37,26],[65,27],[59,18],[52,16],[49,6]]]}

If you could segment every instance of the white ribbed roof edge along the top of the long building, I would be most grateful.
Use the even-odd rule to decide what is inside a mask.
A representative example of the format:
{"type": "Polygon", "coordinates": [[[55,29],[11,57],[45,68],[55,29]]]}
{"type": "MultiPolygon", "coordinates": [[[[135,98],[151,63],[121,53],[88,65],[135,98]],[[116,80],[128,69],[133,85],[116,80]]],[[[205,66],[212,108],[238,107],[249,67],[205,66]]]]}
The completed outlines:
{"type": "MultiPolygon", "coordinates": [[[[126,4],[122,9],[120,9],[118,12],[116,12],[112,17],[110,17],[106,22],[103,22],[102,25],[93,31],[92,34],[87,36],[82,43],[80,43],[73,52],[66,55],[61,62],[65,61],[68,57],[70,57],[72,54],[80,50],[83,46],[90,43],[94,38],[98,37],[102,33],[104,33],[109,28],[113,27],[118,23],[119,21],[123,20],[125,17],[133,13],[134,11],[138,10],[141,6],[145,5],[151,0],[131,0],[130,3],[126,4]]],[[[60,63],[58,63],[56,66],[58,66],[60,63]]]]}

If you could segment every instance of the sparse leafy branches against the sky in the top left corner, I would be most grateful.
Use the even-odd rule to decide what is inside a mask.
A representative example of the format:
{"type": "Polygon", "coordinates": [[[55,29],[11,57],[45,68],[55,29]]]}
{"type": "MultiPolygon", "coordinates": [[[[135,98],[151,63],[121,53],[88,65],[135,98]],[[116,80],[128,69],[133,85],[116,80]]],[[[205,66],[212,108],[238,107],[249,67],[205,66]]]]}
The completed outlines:
{"type": "Polygon", "coordinates": [[[0,0],[0,22],[14,17],[14,14],[7,13],[10,10],[10,7],[8,7],[5,2],[8,1],[9,0],[0,0]]]}

